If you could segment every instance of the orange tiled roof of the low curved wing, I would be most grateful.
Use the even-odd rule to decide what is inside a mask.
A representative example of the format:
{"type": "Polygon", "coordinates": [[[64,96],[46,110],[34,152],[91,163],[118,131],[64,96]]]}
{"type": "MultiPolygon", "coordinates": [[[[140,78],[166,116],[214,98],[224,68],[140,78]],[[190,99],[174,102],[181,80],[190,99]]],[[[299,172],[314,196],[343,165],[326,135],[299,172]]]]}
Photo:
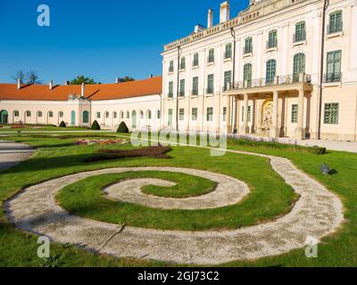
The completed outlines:
{"type": "MultiPolygon", "coordinates": [[[[0,100],[25,101],[67,101],[69,95],[80,95],[80,85],[48,85],[0,84],[0,100]]],[[[86,85],[85,97],[92,101],[115,100],[140,97],[162,93],[162,77],[154,77],[140,81],[120,84],[86,85]]]]}

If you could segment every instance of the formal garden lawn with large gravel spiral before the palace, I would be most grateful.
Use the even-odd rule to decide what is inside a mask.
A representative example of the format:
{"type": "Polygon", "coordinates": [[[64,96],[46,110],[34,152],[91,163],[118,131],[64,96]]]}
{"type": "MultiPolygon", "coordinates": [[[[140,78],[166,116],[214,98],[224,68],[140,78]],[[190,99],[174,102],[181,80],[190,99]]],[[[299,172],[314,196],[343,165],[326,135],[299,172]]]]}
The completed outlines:
{"type": "Polygon", "coordinates": [[[2,266],[357,265],[356,153],[231,140],[214,157],[57,128],[1,140],[34,149],[0,173],[2,266]]]}

